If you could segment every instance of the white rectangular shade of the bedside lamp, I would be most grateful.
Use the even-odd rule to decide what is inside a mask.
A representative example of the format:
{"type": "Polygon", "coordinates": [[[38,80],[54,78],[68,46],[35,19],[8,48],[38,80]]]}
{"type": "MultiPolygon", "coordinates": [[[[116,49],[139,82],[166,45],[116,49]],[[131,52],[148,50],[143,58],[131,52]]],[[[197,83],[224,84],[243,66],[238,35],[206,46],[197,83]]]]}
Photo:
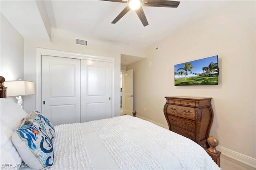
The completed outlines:
{"type": "Polygon", "coordinates": [[[7,87],[7,97],[26,96],[35,94],[34,82],[32,81],[5,81],[4,86],[7,87]]]}

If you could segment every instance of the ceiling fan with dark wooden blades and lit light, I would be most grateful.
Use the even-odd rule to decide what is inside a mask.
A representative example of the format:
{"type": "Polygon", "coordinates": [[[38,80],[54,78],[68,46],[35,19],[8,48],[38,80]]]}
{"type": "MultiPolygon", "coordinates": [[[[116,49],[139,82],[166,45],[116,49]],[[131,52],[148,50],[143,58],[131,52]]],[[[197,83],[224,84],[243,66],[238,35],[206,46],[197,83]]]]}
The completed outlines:
{"type": "Polygon", "coordinates": [[[122,10],[122,12],[111,22],[112,24],[116,24],[127,12],[131,9],[135,10],[140,21],[143,26],[148,25],[148,20],[144,14],[142,6],[152,6],[152,7],[169,7],[169,8],[177,8],[180,4],[179,1],[171,1],[171,0],[103,0],[103,1],[111,1],[111,2],[122,2],[128,3],[128,5],[122,10]]]}

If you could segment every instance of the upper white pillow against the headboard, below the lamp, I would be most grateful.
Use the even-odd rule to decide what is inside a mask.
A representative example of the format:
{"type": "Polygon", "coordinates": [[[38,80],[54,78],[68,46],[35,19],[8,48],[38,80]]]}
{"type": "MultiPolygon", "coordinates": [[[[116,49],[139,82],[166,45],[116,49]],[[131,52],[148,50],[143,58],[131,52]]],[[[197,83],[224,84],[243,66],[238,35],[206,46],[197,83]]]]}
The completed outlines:
{"type": "Polygon", "coordinates": [[[0,117],[12,131],[20,127],[21,119],[28,114],[10,99],[0,98],[0,117]]]}

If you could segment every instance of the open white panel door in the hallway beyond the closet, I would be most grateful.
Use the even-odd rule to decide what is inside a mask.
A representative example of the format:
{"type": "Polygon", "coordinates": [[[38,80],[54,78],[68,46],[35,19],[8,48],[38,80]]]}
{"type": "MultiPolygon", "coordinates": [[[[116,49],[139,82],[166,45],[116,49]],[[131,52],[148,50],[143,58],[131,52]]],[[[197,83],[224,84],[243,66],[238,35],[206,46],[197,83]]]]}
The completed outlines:
{"type": "Polygon", "coordinates": [[[125,115],[132,115],[132,69],[123,72],[123,105],[125,115]]]}

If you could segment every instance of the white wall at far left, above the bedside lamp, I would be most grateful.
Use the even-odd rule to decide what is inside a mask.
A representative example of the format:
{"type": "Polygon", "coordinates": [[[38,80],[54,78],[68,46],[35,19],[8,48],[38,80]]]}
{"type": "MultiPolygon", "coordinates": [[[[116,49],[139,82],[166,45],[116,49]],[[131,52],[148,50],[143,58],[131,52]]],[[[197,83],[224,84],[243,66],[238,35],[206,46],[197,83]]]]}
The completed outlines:
{"type": "Polygon", "coordinates": [[[24,78],[24,38],[1,13],[0,75],[8,80],[24,78]]]}

